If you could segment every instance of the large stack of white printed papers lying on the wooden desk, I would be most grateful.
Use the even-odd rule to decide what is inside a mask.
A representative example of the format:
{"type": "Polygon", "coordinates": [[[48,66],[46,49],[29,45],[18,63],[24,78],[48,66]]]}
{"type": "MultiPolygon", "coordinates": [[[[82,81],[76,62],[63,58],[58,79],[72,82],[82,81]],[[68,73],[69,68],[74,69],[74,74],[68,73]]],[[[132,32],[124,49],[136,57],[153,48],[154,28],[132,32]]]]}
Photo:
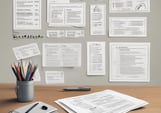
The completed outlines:
{"type": "Polygon", "coordinates": [[[148,102],[112,90],[55,101],[69,113],[127,113],[148,102]]]}

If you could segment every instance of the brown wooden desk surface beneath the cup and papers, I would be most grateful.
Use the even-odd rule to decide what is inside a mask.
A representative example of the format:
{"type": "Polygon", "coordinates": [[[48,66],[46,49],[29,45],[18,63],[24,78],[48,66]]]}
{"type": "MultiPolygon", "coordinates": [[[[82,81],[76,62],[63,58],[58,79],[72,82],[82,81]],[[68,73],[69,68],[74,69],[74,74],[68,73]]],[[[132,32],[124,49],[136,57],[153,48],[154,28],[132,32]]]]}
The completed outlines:
{"type": "MultiPolygon", "coordinates": [[[[91,91],[64,92],[65,86],[35,86],[34,101],[46,102],[58,109],[59,113],[66,113],[54,101],[60,98],[88,94],[105,89],[111,89],[149,102],[144,108],[130,113],[161,113],[161,87],[154,86],[92,86],[91,91]]],[[[21,103],[16,101],[15,84],[0,84],[0,112],[8,113],[31,102],[21,103]]]]}

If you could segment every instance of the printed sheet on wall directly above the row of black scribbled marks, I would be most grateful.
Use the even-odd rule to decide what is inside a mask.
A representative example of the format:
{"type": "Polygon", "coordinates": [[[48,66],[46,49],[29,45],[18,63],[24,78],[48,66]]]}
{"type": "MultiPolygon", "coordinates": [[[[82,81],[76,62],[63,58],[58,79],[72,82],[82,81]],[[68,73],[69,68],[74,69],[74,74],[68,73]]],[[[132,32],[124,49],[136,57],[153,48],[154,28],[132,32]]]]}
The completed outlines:
{"type": "Polygon", "coordinates": [[[13,0],[13,29],[41,29],[41,0],[13,0]]]}

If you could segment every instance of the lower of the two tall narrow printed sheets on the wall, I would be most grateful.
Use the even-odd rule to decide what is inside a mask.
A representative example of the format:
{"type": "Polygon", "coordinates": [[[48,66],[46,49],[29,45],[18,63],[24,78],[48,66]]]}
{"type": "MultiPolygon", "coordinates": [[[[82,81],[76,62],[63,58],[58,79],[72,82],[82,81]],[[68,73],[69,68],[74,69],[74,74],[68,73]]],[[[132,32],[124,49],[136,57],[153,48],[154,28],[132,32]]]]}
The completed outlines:
{"type": "Polygon", "coordinates": [[[105,75],[105,42],[87,42],[87,75],[105,75]]]}

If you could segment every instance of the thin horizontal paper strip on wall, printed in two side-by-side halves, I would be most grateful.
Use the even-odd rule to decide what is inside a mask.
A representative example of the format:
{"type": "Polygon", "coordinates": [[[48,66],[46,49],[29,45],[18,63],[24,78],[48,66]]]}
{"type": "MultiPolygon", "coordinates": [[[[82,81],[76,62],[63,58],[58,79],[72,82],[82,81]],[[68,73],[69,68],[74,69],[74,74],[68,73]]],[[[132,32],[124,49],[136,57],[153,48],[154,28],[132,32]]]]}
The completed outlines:
{"type": "Polygon", "coordinates": [[[80,38],[84,36],[84,30],[47,30],[48,38],[80,38]]]}

